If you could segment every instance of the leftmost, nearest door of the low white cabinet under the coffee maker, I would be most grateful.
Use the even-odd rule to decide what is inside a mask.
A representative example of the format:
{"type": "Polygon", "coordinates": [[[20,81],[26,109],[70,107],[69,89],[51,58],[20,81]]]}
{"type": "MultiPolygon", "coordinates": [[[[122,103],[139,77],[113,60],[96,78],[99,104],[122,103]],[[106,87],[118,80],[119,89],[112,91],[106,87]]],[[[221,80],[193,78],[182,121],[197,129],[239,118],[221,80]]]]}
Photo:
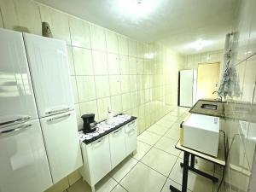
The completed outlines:
{"type": "Polygon", "coordinates": [[[111,170],[108,135],[87,145],[90,182],[96,184],[111,170]]]}

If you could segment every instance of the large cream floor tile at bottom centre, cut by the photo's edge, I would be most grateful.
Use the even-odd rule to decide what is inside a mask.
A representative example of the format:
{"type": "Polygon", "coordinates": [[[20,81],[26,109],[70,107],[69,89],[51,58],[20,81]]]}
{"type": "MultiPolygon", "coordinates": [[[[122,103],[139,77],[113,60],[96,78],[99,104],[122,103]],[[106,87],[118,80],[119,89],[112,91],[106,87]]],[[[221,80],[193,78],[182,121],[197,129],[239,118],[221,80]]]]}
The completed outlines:
{"type": "Polygon", "coordinates": [[[158,192],[165,182],[166,177],[138,162],[120,184],[129,192],[158,192]]]}

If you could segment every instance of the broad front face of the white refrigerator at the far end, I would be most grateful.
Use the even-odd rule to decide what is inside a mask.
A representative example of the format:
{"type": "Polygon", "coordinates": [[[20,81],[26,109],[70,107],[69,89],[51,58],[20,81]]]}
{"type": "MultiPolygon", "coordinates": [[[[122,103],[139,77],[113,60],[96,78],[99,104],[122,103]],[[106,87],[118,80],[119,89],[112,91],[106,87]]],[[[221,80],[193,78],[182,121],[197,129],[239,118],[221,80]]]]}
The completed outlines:
{"type": "Polygon", "coordinates": [[[193,103],[193,70],[180,71],[179,105],[192,107],[193,103]]]}

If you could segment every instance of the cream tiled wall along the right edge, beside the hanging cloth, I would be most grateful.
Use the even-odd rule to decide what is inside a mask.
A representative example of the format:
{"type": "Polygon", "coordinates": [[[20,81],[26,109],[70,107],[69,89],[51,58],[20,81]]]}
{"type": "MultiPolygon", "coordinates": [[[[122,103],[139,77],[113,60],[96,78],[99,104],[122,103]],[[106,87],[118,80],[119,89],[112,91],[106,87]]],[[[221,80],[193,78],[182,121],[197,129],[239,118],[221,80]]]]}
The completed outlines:
{"type": "Polygon", "coordinates": [[[252,170],[256,163],[255,158],[253,160],[256,143],[256,2],[247,0],[240,3],[234,26],[236,38],[233,42],[232,58],[241,95],[228,98],[227,106],[230,108],[231,118],[226,119],[225,128],[228,131],[230,158],[226,170],[225,191],[256,190],[255,183],[250,181],[256,175],[256,170],[252,170]]]}

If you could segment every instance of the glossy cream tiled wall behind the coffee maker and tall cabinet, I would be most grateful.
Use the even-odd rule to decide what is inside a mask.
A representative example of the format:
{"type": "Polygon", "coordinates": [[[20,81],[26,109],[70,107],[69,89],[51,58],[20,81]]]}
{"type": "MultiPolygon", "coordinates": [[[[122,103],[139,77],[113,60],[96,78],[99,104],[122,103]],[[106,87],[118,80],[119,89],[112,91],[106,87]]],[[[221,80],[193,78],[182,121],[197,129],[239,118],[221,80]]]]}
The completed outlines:
{"type": "MultiPolygon", "coordinates": [[[[80,116],[107,109],[138,117],[138,133],[177,105],[177,71],[183,57],[160,44],[146,44],[31,0],[0,0],[0,27],[41,34],[49,22],[54,38],[67,42],[79,128],[80,116]]],[[[74,172],[49,191],[79,178],[74,172]]]]}

